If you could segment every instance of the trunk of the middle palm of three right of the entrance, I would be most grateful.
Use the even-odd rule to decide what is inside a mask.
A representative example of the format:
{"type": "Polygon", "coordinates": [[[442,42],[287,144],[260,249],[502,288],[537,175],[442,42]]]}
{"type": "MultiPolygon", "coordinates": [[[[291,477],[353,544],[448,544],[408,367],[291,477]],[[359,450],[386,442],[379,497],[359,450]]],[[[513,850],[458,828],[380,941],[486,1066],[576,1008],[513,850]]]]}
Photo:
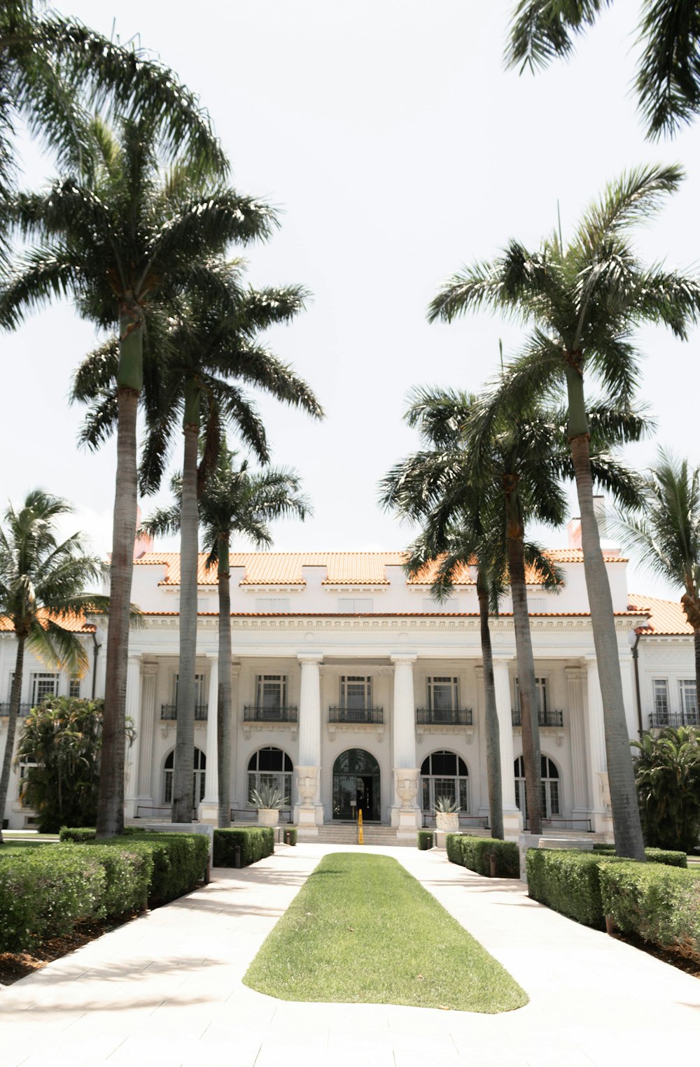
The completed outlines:
{"type": "MultiPolygon", "coordinates": [[[[540,759],[540,727],[535,684],[535,658],[527,608],[525,583],[524,527],[518,496],[518,478],[506,475],[506,521],[508,541],[508,572],[510,594],[513,602],[513,628],[518,658],[518,690],[520,698],[523,764],[525,766],[525,803],[530,833],[542,832],[542,767],[540,759]]],[[[521,798],[522,802],[522,798],[521,798]]]]}

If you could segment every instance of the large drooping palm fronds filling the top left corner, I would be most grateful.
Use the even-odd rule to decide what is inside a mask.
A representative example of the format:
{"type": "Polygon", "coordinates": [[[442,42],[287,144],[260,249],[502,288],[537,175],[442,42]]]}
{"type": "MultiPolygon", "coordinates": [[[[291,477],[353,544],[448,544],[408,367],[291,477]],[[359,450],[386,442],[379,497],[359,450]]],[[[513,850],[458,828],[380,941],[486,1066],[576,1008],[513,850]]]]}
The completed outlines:
{"type": "Polygon", "coordinates": [[[225,171],[206,112],[172,70],[142,49],[115,44],[54,11],[39,14],[37,6],[33,0],[0,5],[0,192],[14,177],[18,120],[44,137],[62,165],[77,156],[89,165],[88,106],[148,115],[169,156],[185,149],[201,164],[225,171]]]}

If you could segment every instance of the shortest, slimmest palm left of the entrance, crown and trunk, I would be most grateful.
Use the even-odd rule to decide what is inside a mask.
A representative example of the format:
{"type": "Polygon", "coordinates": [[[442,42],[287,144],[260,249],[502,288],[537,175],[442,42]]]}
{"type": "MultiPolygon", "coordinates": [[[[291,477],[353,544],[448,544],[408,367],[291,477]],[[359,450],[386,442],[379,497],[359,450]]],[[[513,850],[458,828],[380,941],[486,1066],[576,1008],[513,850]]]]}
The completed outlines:
{"type": "MultiPolygon", "coordinates": [[[[230,539],[241,534],[256,548],[272,544],[269,523],[274,519],[296,515],[302,521],[308,504],[301,495],[298,475],[293,471],[267,467],[251,473],[248,462],[236,466],[236,453],[222,441],[216,467],[207,477],[198,499],[200,524],[208,551],[207,567],[217,564],[219,587],[219,699],[217,735],[219,752],[219,826],[230,826],[232,774],[232,687],[230,687],[230,574],[228,553],[230,539]]],[[[184,479],[176,477],[171,487],[176,503],[156,511],[143,528],[155,536],[173,534],[181,525],[184,479]]],[[[179,708],[178,708],[179,721],[179,708]]],[[[190,779],[191,780],[191,779],[190,779]]]]}

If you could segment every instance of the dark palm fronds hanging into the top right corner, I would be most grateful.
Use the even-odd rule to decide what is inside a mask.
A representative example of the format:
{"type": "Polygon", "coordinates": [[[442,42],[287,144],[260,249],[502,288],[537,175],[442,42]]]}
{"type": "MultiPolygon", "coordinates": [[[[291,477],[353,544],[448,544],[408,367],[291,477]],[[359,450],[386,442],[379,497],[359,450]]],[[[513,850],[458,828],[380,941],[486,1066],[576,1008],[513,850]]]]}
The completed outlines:
{"type": "MultiPolygon", "coordinates": [[[[574,50],[574,38],[612,0],[520,0],[506,53],[508,66],[535,71],[574,50]]],[[[638,39],[643,44],[635,89],[649,137],[673,133],[700,111],[700,14],[695,0],[643,0],[638,39]]]]}

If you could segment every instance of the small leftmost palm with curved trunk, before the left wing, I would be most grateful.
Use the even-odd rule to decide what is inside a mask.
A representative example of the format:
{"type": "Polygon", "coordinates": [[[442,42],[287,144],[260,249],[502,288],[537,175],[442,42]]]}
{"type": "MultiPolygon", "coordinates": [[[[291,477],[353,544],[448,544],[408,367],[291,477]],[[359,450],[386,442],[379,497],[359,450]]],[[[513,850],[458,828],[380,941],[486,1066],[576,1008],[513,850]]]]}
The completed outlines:
{"type": "Polygon", "coordinates": [[[10,620],[17,638],[0,771],[0,812],[7,799],[26,649],[47,666],[82,674],[88,654],[76,622],[88,612],[109,607],[108,598],[83,591],[101,576],[102,563],[86,555],[81,535],[57,540],[57,521],[71,511],[66,500],[35,489],[19,511],[7,507],[0,527],[0,615],[10,620]]]}

